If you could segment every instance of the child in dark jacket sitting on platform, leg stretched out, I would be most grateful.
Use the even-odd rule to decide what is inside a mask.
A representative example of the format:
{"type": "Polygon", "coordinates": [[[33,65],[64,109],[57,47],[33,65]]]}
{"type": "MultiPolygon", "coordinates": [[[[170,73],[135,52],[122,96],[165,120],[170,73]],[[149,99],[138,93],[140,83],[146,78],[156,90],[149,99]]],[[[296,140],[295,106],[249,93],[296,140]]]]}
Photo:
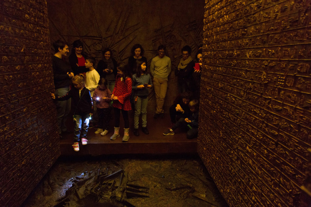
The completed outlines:
{"type": "Polygon", "coordinates": [[[190,115],[188,118],[180,118],[176,124],[169,130],[167,130],[163,135],[174,135],[174,130],[177,128],[188,128],[187,138],[193,139],[197,137],[198,127],[199,127],[199,102],[197,100],[192,100],[189,102],[190,115]]]}

